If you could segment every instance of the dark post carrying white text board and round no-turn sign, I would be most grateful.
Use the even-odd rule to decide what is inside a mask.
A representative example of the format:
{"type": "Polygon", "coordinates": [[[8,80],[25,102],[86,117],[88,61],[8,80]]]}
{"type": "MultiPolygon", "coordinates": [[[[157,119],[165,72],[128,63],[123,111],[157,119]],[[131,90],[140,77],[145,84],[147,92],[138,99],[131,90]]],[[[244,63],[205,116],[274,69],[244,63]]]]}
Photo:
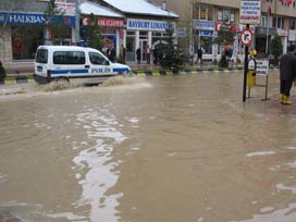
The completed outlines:
{"type": "Polygon", "coordinates": [[[248,51],[252,44],[252,33],[249,25],[260,23],[261,17],[261,0],[240,0],[239,23],[246,24],[246,28],[240,34],[242,44],[245,46],[245,67],[244,67],[244,86],[243,101],[246,101],[247,90],[247,73],[248,73],[248,51]]]}

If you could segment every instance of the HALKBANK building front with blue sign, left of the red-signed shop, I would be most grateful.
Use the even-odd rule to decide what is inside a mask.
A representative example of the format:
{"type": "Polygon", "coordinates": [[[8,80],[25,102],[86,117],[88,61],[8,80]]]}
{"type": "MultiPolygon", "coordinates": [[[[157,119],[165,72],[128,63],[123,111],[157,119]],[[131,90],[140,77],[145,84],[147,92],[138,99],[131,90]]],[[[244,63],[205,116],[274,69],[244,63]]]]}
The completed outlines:
{"type": "Polygon", "coordinates": [[[46,14],[48,1],[2,0],[0,4],[0,60],[4,66],[15,66],[20,61],[23,64],[32,61],[38,45],[48,42],[71,45],[75,41],[75,1],[59,1],[57,10],[62,12],[46,14]]]}

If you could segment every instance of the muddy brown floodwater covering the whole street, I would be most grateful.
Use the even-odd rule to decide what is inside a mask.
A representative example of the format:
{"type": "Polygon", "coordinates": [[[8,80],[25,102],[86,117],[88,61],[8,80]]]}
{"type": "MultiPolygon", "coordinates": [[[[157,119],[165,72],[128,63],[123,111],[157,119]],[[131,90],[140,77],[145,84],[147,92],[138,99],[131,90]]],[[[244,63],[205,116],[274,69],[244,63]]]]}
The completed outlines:
{"type": "Polygon", "coordinates": [[[295,222],[296,96],[269,81],[245,103],[243,74],[0,96],[0,221],[295,222]]]}

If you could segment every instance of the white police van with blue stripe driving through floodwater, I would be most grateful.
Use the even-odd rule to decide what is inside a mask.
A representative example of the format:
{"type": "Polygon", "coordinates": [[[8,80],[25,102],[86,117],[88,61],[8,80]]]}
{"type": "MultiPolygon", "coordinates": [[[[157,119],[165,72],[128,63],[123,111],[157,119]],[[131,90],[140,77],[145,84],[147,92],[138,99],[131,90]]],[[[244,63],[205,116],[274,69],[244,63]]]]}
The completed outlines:
{"type": "Polygon", "coordinates": [[[51,81],[83,79],[101,83],[106,77],[131,72],[128,65],[112,63],[100,51],[76,46],[39,46],[35,57],[34,79],[39,84],[51,81]]]}

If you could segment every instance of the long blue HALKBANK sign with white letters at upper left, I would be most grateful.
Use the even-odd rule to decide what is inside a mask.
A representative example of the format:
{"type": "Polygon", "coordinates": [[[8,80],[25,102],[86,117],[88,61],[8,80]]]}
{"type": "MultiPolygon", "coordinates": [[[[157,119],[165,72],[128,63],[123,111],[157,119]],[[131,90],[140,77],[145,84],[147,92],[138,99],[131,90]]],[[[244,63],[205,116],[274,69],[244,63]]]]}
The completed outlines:
{"type": "Polygon", "coordinates": [[[47,16],[45,14],[32,14],[32,13],[7,13],[0,12],[0,24],[10,25],[48,25],[48,21],[52,24],[62,24],[63,26],[75,26],[75,16],[62,15],[62,16],[47,16]]]}

